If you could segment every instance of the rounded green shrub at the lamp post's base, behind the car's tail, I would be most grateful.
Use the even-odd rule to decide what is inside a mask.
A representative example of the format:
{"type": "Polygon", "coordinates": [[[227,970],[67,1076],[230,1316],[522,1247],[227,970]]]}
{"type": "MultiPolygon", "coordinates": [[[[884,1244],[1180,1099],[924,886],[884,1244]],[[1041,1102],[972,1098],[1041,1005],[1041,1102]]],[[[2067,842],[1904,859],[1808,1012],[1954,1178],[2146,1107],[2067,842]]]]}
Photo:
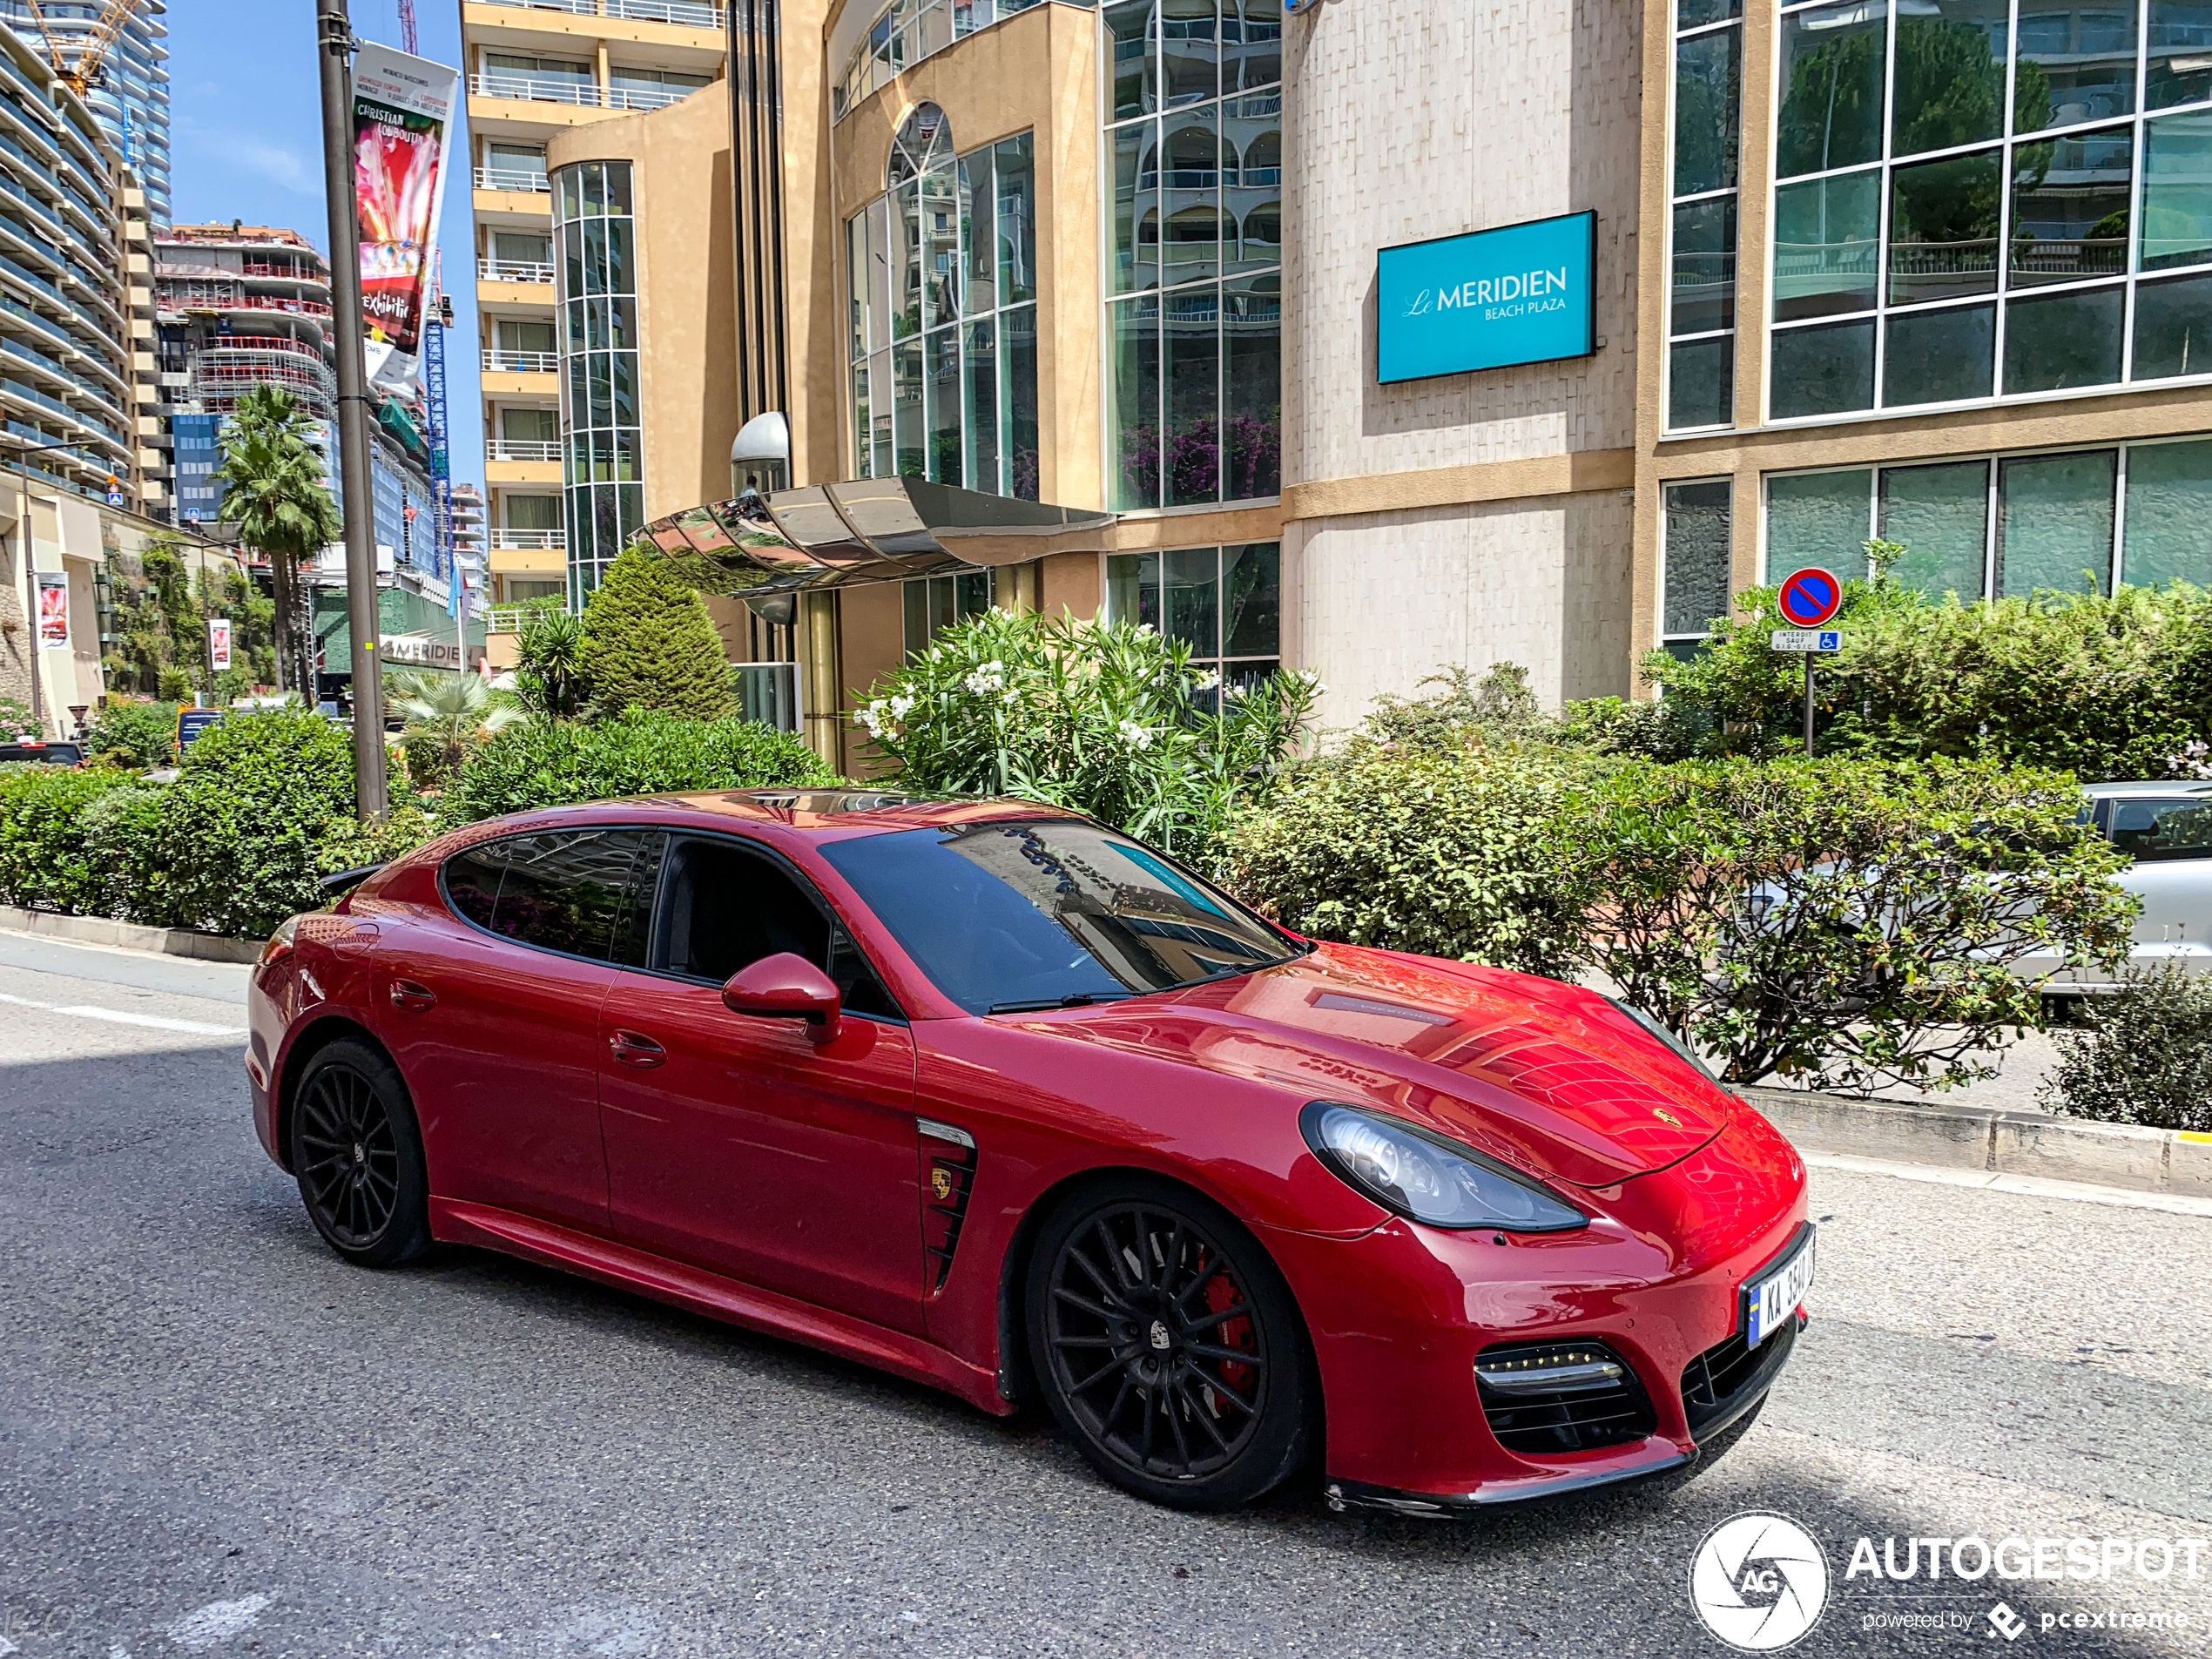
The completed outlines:
{"type": "Polygon", "coordinates": [[[316,847],[354,812],[352,739],[321,714],[232,714],[186,752],[157,856],[184,927],[259,938],[323,905],[316,847]]]}

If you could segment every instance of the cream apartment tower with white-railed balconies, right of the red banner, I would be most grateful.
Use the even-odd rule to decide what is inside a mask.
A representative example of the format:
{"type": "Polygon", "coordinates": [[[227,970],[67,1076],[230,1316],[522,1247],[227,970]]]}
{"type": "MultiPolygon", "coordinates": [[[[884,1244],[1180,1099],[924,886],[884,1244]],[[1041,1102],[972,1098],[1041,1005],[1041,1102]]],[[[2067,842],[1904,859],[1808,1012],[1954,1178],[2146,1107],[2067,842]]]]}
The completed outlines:
{"type": "Polygon", "coordinates": [[[498,604],[566,582],[546,144],[714,82],[723,11],[706,0],[462,0],[460,38],[476,146],[487,597],[498,604]]]}

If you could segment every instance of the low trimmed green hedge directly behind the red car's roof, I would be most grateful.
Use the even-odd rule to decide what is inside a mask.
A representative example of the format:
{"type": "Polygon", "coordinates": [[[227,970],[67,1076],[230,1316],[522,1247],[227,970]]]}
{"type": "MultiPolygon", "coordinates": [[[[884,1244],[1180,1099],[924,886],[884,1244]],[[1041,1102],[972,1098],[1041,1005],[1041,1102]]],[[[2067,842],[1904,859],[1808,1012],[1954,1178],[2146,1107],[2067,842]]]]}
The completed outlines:
{"type": "Polygon", "coordinates": [[[838,781],[814,750],[772,726],[637,710],[595,726],[509,726],[469,759],[440,807],[447,823],[471,823],[573,801],[838,781]]]}

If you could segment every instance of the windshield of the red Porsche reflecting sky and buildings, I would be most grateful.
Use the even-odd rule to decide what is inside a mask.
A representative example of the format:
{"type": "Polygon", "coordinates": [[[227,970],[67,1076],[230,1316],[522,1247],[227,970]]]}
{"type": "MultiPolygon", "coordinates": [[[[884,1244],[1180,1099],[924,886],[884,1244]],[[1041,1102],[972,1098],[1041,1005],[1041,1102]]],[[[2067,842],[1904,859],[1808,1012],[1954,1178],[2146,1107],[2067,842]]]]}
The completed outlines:
{"type": "Polygon", "coordinates": [[[1296,956],[1259,916],[1079,818],[832,841],[907,956],[969,1013],[1079,1006],[1296,956]]]}

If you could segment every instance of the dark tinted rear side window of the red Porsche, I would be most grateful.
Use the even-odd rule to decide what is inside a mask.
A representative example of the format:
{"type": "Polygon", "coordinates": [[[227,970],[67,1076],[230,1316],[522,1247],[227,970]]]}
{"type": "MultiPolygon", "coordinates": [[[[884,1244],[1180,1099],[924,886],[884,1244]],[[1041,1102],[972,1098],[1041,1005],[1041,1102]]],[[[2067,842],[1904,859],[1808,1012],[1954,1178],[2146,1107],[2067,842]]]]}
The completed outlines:
{"type": "Polygon", "coordinates": [[[542,951],[608,960],[646,830],[549,830],[447,860],[445,891],[467,920],[542,951]]]}

